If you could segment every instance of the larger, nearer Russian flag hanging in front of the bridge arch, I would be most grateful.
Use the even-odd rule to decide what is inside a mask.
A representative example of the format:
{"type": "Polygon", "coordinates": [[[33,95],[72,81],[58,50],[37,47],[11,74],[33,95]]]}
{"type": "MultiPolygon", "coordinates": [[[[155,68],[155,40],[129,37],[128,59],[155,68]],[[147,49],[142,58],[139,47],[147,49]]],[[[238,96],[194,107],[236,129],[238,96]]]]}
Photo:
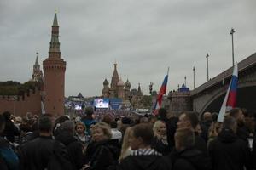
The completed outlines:
{"type": "Polygon", "coordinates": [[[226,111],[230,111],[231,109],[236,107],[237,82],[238,82],[238,69],[237,69],[237,63],[236,63],[236,65],[234,66],[230,86],[228,88],[227,94],[225,95],[225,98],[224,98],[224,102],[218,114],[218,122],[224,121],[224,116],[226,111]]]}

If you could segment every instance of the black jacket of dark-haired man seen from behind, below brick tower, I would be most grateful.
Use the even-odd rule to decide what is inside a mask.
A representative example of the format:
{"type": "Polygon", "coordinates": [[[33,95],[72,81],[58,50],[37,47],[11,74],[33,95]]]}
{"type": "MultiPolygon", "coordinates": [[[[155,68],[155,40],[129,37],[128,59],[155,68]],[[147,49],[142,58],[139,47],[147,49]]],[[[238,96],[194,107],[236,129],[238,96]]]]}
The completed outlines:
{"type": "Polygon", "coordinates": [[[67,161],[67,150],[52,137],[38,137],[20,147],[21,170],[73,169],[67,161]]]}

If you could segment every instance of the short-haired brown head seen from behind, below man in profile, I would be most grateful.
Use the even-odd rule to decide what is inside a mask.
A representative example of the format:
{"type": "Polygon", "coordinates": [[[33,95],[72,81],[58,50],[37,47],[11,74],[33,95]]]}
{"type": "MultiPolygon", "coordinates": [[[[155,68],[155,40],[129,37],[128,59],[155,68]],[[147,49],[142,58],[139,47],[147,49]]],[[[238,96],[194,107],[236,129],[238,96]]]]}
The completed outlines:
{"type": "Polygon", "coordinates": [[[177,129],[175,135],[175,148],[177,150],[184,150],[193,147],[195,144],[195,133],[189,127],[177,129]]]}

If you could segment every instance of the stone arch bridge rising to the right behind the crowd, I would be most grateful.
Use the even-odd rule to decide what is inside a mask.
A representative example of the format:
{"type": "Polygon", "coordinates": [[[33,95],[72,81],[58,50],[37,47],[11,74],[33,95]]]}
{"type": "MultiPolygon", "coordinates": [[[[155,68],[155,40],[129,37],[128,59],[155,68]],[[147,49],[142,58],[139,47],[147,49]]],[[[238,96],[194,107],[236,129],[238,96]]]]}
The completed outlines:
{"type": "MultiPolygon", "coordinates": [[[[169,94],[170,111],[218,112],[230,84],[233,67],[192,91],[169,94]],[[182,102],[182,104],[181,104],[182,102]]],[[[256,111],[256,53],[238,63],[237,107],[256,111]]]]}

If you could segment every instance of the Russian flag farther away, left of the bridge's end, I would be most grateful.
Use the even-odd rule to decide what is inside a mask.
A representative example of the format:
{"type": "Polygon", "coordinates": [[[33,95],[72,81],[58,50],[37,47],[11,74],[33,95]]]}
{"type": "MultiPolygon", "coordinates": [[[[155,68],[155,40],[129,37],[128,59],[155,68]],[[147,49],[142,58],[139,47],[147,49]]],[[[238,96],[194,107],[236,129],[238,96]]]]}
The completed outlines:
{"type": "MultiPolygon", "coordinates": [[[[168,72],[169,72],[169,68],[168,68],[168,72]]],[[[162,83],[159,94],[158,94],[157,99],[155,101],[154,110],[153,110],[154,115],[158,114],[158,110],[160,109],[160,106],[162,104],[163,95],[166,94],[167,82],[168,82],[168,73],[167,73],[167,75],[164,79],[164,82],[162,83]]]]}

